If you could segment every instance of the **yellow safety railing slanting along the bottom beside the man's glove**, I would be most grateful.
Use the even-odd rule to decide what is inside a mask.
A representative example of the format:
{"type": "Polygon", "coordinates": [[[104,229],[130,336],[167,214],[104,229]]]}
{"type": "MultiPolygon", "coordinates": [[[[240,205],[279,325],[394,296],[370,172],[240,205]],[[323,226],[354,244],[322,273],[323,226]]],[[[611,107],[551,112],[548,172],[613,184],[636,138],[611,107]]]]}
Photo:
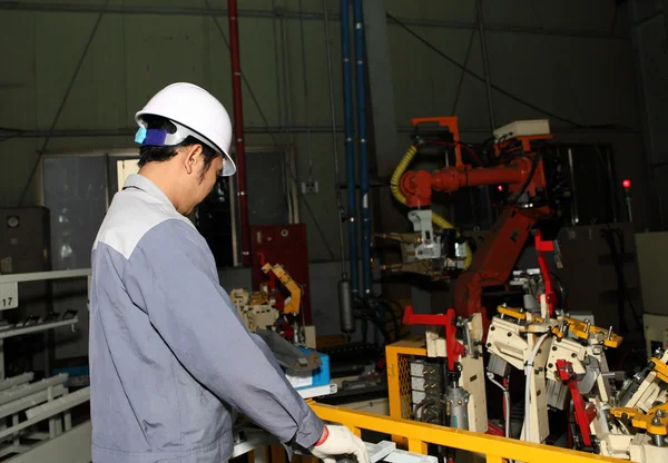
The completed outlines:
{"type": "Polygon", "coordinates": [[[423,455],[426,454],[428,444],[435,444],[484,454],[488,463],[502,463],[504,459],[527,463],[619,463],[622,461],[574,450],[393,418],[316,402],[311,402],[310,405],[323,421],[343,424],[357,435],[361,434],[362,430],[367,430],[404,437],[407,440],[410,452],[423,455]]]}

